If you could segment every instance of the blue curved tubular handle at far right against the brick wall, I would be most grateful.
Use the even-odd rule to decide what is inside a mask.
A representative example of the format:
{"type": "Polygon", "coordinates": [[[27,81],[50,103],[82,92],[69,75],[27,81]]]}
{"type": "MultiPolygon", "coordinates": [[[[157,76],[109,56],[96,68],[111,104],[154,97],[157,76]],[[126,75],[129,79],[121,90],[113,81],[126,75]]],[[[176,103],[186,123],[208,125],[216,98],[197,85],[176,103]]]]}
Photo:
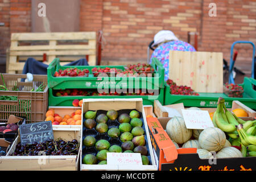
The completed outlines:
{"type": "Polygon", "coordinates": [[[232,47],[231,47],[231,53],[230,53],[230,66],[229,66],[229,84],[234,84],[234,78],[233,78],[233,74],[232,74],[232,71],[233,71],[233,68],[234,68],[234,60],[233,60],[233,49],[234,49],[234,46],[236,44],[251,44],[251,46],[253,46],[253,63],[251,65],[251,77],[254,78],[254,57],[255,57],[255,45],[253,42],[250,42],[250,41],[243,41],[243,40],[240,40],[240,41],[236,41],[232,44],[232,47]]]}

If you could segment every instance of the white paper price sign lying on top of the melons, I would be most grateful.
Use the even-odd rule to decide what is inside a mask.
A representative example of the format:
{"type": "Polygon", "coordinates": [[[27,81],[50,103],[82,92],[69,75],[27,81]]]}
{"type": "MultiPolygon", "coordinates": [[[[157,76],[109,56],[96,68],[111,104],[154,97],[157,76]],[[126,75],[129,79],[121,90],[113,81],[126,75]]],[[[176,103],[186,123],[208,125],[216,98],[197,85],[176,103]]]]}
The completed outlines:
{"type": "Polygon", "coordinates": [[[201,129],[214,127],[207,110],[181,109],[187,129],[201,129]]]}

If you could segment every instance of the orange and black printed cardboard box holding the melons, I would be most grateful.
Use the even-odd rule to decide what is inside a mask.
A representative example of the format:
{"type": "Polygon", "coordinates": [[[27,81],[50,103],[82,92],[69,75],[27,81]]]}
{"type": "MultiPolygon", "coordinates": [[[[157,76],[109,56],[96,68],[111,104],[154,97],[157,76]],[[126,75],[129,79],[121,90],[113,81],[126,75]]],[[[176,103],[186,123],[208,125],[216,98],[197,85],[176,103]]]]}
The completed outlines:
{"type": "MultiPolygon", "coordinates": [[[[159,122],[158,126],[161,127],[166,126],[169,121],[168,118],[147,118],[147,122],[159,122]],[[154,119],[154,120],[152,120],[154,119]]],[[[150,126],[148,124],[148,126],[150,126]]],[[[165,130],[166,127],[163,127],[165,130]]],[[[162,133],[164,132],[163,130],[162,133]]],[[[150,130],[152,131],[152,130],[150,130]]],[[[166,161],[163,158],[164,155],[170,155],[165,152],[164,147],[157,142],[153,142],[154,140],[158,140],[154,135],[151,134],[152,144],[157,144],[156,148],[162,150],[162,155],[159,155],[159,170],[162,171],[254,171],[256,170],[256,157],[246,157],[246,158],[227,158],[227,159],[200,159],[199,155],[196,153],[196,148],[178,148],[177,149],[177,159],[174,161],[166,161]]],[[[170,147],[170,146],[169,146],[170,147]]],[[[156,152],[156,154],[158,154],[156,152]]],[[[160,153],[159,153],[160,154],[160,153]]],[[[175,155],[174,155],[175,156],[175,155]]]]}

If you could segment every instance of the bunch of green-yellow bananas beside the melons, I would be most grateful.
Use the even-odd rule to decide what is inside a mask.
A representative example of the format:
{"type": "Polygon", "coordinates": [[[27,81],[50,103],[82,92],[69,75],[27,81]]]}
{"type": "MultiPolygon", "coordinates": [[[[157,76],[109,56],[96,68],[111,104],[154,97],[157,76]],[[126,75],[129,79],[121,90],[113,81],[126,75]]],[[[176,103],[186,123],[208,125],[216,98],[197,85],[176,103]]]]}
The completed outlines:
{"type": "Polygon", "coordinates": [[[243,121],[227,110],[224,103],[224,98],[220,97],[213,114],[213,125],[229,136],[232,146],[241,147],[244,157],[256,156],[256,120],[243,121]]]}

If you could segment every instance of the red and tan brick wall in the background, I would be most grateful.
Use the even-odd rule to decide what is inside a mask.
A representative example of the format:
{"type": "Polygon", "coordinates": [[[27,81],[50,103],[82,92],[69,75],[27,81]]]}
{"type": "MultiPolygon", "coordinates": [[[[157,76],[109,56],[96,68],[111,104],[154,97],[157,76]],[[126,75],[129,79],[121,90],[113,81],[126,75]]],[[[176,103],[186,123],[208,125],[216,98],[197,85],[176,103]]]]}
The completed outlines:
{"type": "MultiPolygon", "coordinates": [[[[236,40],[256,44],[256,2],[253,0],[81,0],[80,31],[104,32],[102,64],[146,62],[147,46],[160,30],[172,30],[187,41],[198,32],[199,51],[223,52],[229,61],[236,40]],[[208,15],[209,3],[217,17],[208,15]]],[[[11,32],[31,31],[31,0],[0,0],[0,52],[9,46],[11,32]]],[[[193,39],[192,39],[193,40],[193,39]]],[[[251,46],[237,45],[237,63],[251,64],[251,46]]]]}

